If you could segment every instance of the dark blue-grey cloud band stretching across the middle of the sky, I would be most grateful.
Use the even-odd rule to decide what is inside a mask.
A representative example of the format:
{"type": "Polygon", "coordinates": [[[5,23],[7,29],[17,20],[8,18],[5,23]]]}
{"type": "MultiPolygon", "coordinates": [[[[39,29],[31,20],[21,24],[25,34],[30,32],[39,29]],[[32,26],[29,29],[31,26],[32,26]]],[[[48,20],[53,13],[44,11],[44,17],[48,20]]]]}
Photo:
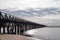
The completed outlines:
{"type": "MultiPolygon", "coordinates": [[[[47,15],[58,15],[60,13],[60,8],[44,8],[44,9],[26,9],[26,10],[17,10],[13,11],[14,14],[21,14],[22,16],[25,15],[28,17],[41,17],[47,15]]],[[[20,16],[21,16],[20,15],[20,16]]]]}

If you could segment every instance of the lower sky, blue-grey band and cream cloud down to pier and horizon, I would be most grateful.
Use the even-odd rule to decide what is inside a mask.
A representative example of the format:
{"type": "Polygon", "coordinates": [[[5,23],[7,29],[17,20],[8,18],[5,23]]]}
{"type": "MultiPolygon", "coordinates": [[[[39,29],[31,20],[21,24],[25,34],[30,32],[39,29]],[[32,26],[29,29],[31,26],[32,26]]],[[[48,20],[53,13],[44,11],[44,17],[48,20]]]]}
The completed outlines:
{"type": "Polygon", "coordinates": [[[4,10],[19,18],[49,26],[60,26],[60,8],[28,8],[26,10],[4,10]]]}

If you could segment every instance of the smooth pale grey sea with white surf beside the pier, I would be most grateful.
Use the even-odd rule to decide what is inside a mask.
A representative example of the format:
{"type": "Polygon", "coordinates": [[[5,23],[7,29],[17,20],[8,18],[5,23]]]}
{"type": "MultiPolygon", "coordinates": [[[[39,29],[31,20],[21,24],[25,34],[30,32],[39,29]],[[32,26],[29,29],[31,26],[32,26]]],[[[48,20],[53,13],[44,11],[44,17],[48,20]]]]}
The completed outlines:
{"type": "Polygon", "coordinates": [[[44,40],[60,40],[60,28],[38,28],[26,31],[25,34],[44,40]]]}

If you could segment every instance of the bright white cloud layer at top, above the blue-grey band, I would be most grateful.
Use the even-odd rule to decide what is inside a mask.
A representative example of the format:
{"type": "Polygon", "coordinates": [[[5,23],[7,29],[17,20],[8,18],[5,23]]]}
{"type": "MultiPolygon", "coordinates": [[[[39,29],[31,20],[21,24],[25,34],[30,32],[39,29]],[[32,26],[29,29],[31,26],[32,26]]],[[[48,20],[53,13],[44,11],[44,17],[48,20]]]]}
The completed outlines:
{"type": "Polygon", "coordinates": [[[53,0],[0,0],[0,9],[60,7],[60,1],[53,0]]]}

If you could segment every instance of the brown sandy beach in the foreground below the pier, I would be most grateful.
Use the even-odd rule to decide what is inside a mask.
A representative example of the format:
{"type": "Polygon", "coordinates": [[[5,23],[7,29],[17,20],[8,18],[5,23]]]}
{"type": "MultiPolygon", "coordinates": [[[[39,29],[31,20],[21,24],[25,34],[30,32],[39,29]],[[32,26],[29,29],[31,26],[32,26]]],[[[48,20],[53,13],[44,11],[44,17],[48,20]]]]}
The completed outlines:
{"type": "Polygon", "coordinates": [[[30,40],[21,35],[0,35],[0,40],[30,40]]]}

